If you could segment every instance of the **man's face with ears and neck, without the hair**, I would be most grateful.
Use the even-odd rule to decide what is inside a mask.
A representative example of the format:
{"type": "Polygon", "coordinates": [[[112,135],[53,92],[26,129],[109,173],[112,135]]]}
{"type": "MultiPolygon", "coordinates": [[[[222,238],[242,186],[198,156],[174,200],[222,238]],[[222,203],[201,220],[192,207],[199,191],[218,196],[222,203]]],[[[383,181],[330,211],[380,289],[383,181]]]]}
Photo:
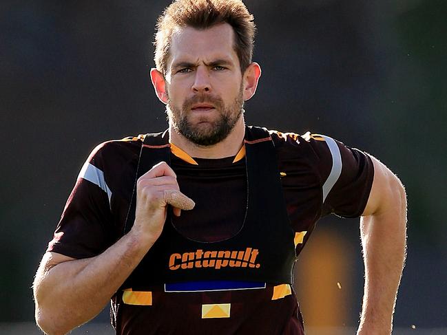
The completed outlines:
{"type": "Polygon", "coordinates": [[[242,147],[242,103],[255,94],[260,67],[251,63],[242,75],[233,34],[227,23],[206,30],[178,28],[172,36],[165,78],[156,69],[151,71],[156,94],[167,104],[170,141],[193,157],[227,157],[242,147]],[[216,144],[195,144],[176,127],[178,120],[186,118],[198,133],[211,133],[222,115],[234,127],[216,144]]]}

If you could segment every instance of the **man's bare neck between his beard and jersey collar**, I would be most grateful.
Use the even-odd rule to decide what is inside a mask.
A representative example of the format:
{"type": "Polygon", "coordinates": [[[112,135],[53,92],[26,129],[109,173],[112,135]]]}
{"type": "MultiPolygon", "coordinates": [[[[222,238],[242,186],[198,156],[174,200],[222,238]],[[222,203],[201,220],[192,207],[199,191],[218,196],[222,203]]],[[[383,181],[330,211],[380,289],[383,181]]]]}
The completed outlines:
{"type": "Polygon", "coordinates": [[[214,145],[207,147],[195,144],[178,133],[176,129],[169,124],[169,142],[174,143],[188,155],[194,158],[225,158],[234,156],[242,148],[245,136],[245,121],[241,115],[236,125],[231,130],[227,138],[214,145]]]}

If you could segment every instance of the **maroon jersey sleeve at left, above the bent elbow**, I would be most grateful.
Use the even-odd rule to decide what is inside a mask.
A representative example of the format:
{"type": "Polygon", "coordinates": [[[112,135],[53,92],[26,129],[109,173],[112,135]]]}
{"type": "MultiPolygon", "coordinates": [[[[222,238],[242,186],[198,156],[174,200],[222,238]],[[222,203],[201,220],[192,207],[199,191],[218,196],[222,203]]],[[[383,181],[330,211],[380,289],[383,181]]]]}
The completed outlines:
{"type": "Polygon", "coordinates": [[[47,251],[76,259],[94,257],[110,246],[110,190],[100,144],[83,164],[47,251]]]}

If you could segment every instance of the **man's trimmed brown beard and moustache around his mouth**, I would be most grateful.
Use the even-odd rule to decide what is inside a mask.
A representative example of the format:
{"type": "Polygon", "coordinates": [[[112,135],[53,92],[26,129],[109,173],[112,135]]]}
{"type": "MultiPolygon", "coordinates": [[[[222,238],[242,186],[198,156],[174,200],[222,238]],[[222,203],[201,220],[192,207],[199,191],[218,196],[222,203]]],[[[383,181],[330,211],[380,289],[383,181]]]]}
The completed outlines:
{"type": "Polygon", "coordinates": [[[209,147],[225,140],[242,116],[242,107],[244,105],[242,93],[243,87],[241,85],[238,96],[228,106],[225,105],[222,98],[210,94],[197,94],[185,100],[181,109],[178,109],[171,103],[171,100],[168,100],[166,107],[167,117],[172,122],[174,129],[185,136],[185,138],[201,147],[209,147]],[[188,118],[189,111],[197,103],[214,105],[214,108],[218,111],[218,118],[209,120],[202,117],[196,124],[192,123],[188,118]]]}

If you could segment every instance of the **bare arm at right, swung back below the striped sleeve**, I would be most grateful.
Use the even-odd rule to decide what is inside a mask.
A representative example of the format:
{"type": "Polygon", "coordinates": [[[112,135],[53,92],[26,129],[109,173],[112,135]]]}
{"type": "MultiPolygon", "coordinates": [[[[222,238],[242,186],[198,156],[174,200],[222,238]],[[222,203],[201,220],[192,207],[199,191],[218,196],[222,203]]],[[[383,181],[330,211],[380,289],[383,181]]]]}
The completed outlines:
{"type": "Polygon", "coordinates": [[[357,335],[391,334],[406,257],[406,194],[399,179],[375,158],[374,182],[360,221],[365,266],[357,335]]]}

